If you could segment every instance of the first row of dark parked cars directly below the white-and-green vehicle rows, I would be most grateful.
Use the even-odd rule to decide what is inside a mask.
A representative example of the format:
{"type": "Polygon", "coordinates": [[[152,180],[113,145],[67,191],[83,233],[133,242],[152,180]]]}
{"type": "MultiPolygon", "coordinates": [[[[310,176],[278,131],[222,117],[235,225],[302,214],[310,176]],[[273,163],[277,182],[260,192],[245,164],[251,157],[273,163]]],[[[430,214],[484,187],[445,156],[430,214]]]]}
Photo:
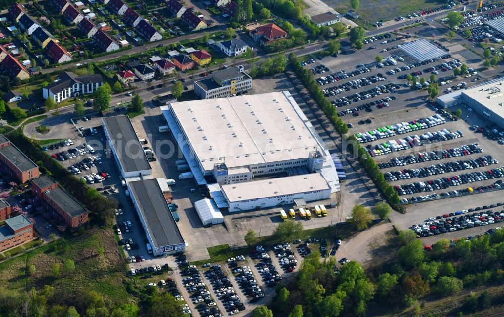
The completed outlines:
{"type": "Polygon", "coordinates": [[[379,163],[378,168],[390,168],[395,166],[406,166],[410,164],[434,161],[451,157],[466,156],[471,154],[482,153],[483,149],[480,148],[479,144],[473,143],[468,145],[463,145],[457,148],[444,149],[438,152],[431,151],[418,152],[416,154],[409,154],[402,157],[394,157],[388,163],[379,163]]]}

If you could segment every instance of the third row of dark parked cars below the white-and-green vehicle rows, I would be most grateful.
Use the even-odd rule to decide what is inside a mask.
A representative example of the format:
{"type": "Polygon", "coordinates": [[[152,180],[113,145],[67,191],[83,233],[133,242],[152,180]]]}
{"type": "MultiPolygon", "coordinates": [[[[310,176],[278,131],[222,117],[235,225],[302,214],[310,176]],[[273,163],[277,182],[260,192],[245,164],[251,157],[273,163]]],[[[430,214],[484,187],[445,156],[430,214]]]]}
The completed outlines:
{"type": "MultiPolygon", "coordinates": [[[[492,178],[501,178],[504,176],[502,173],[502,167],[494,168],[491,170],[487,170],[484,172],[472,172],[472,173],[464,173],[460,175],[454,175],[451,177],[441,177],[437,179],[431,179],[426,182],[417,181],[404,185],[395,185],[394,189],[396,190],[399,196],[402,195],[411,195],[421,192],[432,192],[437,189],[446,189],[450,186],[458,186],[461,184],[472,183],[475,181],[481,181],[492,178]]],[[[472,187],[469,187],[472,189],[472,187]]],[[[472,189],[474,191],[474,189],[472,189]]],[[[454,195],[458,195],[457,191],[454,191],[454,195]]]]}

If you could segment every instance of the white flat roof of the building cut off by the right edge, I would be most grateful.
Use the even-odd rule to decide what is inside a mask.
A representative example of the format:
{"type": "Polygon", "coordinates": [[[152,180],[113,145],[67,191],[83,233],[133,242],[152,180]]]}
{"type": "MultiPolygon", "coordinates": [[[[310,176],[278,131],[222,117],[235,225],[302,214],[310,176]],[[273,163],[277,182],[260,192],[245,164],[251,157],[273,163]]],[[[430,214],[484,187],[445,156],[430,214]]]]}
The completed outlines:
{"type": "Polygon", "coordinates": [[[504,78],[477,85],[462,91],[463,95],[475,99],[488,110],[504,118],[504,78]]]}

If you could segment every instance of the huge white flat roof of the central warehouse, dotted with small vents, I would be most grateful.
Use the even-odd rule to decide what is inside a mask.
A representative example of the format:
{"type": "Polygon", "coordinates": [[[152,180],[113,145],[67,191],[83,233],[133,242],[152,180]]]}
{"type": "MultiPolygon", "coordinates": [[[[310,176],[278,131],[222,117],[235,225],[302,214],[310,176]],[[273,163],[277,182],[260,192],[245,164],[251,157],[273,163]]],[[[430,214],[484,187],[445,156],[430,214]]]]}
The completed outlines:
{"type": "Polygon", "coordinates": [[[170,104],[205,170],[303,159],[320,150],[288,91],[170,104]]]}

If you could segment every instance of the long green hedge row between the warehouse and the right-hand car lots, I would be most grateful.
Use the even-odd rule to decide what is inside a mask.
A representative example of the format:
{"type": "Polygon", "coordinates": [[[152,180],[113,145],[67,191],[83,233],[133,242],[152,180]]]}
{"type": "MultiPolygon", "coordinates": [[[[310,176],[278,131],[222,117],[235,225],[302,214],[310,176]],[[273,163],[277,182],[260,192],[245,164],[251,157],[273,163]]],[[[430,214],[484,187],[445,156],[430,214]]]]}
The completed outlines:
{"type": "MultiPolygon", "coordinates": [[[[329,102],[329,100],[324,97],[324,94],[320,90],[319,86],[313,80],[308,70],[304,69],[297,57],[293,54],[289,54],[289,61],[291,63],[292,68],[294,69],[296,75],[301,79],[304,86],[310,92],[313,100],[315,100],[319,106],[324,110],[324,113],[331,119],[331,122],[336,126],[338,132],[344,137],[346,133],[348,133],[348,126],[346,123],[336,114],[336,108],[329,102]]],[[[366,170],[369,177],[376,184],[376,186],[380,189],[383,195],[386,197],[387,201],[391,206],[395,209],[400,209],[399,204],[399,195],[395,191],[394,187],[391,186],[387,180],[385,180],[385,176],[380,171],[376,163],[369,156],[369,154],[364,150],[363,147],[360,146],[359,142],[354,136],[350,136],[347,138],[350,142],[350,146],[353,149],[353,146],[357,147],[358,160],[366,170]]]]}

